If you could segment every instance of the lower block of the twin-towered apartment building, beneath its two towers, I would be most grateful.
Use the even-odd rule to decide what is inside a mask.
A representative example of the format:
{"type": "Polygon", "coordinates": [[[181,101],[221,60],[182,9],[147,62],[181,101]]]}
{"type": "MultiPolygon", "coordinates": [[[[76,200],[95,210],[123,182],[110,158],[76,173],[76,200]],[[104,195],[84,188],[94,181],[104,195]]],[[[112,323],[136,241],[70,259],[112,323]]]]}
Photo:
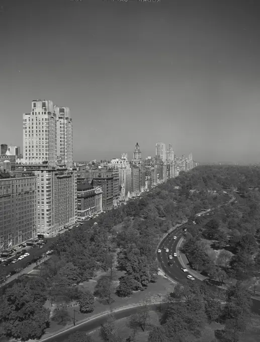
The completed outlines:
{"type": "Polygon", "coordinates": [[[52,236],[77,217],[77,177],[75,170],[48,164],[22,165],[37,176],[37,234],[52,236]]]}

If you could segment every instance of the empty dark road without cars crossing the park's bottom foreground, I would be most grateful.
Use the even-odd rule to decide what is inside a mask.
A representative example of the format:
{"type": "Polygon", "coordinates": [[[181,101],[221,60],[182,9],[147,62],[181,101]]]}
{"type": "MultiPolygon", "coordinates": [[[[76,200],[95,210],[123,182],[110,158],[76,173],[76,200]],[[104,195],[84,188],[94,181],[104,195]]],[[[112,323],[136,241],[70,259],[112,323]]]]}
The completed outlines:
{"type": "MultiPolygon", "coordinates": [[[[143,307],[143,305],[138,305],[132,308],[126,308],[121,309],[119,311],[115,311],[115,317],[116,319],[129,317],[132,314],[134,314],[138,308],[143,307]]],[[[161,303],[161,308],[163,309],[164,304],[161,303]]],[[[159,311],[159,303],[149,304],[150,311],[159,311]]],[[[92,318],[88,322],[81,323],[79,325],[76,325],[66,331],[60,332],[55,336],[46,337],[40,340],[40,342],[48,341],[48,342],[62,342],[65,338],[67,338],[70,334],[72,334],[74,331],[85,331],[85,332],[91,332],[93,330],[96,330],[100,328],[101,324],[105,323],[107,319],[107,314],[101,314],[101,316],[92,318]]]]}

